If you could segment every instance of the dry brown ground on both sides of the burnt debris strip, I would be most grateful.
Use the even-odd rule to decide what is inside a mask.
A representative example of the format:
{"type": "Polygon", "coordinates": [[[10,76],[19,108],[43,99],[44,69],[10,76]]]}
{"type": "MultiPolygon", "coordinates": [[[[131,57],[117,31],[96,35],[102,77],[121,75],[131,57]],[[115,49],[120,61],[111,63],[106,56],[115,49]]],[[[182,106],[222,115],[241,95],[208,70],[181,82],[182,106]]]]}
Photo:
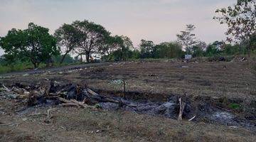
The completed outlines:
{"type": "MultiPolygon", "coordinates": [[[[246,62],[119,62],[78,70],[2,77],[1,84],[57,82],[87,85],[100,94],[166,101],[172,96],[218,107],[256,120],[256,75],[246,62]],[[198,100],[200,99],[200,100],[198,100]],[[216,104],[216,105],[217,105],[216,104]],[[230,108],[238,104],[239,109],[230,108]],[[214,104],[215,105],[215,104],[214,104]]],[[[60,106],[23,109],[21,100],[0,101],[0,141],[256,141],[256,129],[208,121],[176,121],[131,111],[60,106]],[[50,118],[47,118],[50,111],[50,118]]]]}

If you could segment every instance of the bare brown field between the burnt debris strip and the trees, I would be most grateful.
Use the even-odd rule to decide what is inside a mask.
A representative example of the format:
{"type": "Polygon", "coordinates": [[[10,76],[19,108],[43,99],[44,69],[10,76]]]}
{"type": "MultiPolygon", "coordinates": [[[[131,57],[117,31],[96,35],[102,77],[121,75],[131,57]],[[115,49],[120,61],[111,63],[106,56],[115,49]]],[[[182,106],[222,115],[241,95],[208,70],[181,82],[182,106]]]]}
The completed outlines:
{"type": "Polygon", "coordinates": [[[18,75],[1,82],[45,80],[77,82],[106,92],[123,91],[119,80],[125,80],[128,92],[153,94],[152,97],[184,93],[234,99],[256,97],[256,76],[246,62],[120,62],[83,70],[18,75]]]}

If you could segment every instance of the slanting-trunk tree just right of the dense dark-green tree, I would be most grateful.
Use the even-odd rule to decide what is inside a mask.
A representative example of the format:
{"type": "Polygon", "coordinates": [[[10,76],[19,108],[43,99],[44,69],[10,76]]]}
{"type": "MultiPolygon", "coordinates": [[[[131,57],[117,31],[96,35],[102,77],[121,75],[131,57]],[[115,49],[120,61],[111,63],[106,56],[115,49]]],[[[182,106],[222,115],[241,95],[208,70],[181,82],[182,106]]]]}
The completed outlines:
{"type": "Polygon", "coordinates": [[[73,52],[75,48],[78,47],[79,40],[82,36],[81,34],[82,33],[79,33],[75,26],[66,23],[55,31],[54,36],[64,53],[60,60],[60,64],[63,63],[68,53],[73,52]]]}

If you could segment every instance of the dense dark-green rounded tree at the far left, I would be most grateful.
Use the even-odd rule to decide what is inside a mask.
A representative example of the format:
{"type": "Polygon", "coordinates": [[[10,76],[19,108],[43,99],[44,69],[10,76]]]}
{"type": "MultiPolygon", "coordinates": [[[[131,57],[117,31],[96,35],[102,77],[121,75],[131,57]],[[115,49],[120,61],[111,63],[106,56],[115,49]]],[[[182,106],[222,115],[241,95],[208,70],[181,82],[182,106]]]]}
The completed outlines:
{"type": "Polygon", "coordinates": [[[25,30],[11,29],[1,38],[0,46],[12,59],[30,60],[34,67],[41,62],[49,63],[53,55],[59,54],[56,40],[48,33],[48,28],[28,23],[25,30]]]}

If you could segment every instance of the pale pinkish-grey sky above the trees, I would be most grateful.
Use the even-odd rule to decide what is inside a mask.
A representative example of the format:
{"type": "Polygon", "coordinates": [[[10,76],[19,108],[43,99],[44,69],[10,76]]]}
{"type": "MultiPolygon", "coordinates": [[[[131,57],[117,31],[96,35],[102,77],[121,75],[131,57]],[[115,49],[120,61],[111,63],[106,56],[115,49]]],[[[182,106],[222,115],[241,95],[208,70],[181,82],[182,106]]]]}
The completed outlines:
{"type": "MultiPolygon", "coordinates": [[[[236,0],[0,0],[0,36],[29,22],[50,29],[75,20],[98,23],[112,35],[127,35],[134,46],[176,40],[176,34],[194,24],[194,33],[206,43],[225,39],[226,27],[213,20],[215,9],[236,0]]],[[[0,55],[3,50],[0,50],[0,55]]]]}

